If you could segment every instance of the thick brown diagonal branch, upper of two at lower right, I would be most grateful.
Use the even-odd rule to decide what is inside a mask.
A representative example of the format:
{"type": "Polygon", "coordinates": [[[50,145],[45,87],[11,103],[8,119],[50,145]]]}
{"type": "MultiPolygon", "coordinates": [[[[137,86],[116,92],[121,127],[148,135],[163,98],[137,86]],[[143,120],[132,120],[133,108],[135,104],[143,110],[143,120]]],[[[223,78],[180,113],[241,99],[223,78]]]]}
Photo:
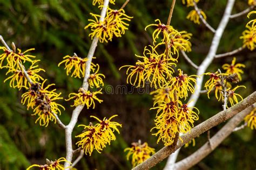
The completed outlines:
{"type": "Polygon", "coordinates": [[[198,137],[200,134],[210,130],[214,126],[217,126],[221,122],[226,121],[227,119],[233,117],[234,115],[238,114],[238,112],[250,107],[253,103],[256,102],[256,91],[252,93],[250,96],[246,97],[244,100],[235,104],[233,107],[228,108],[227,110],[223,110],[218,114],[212,116],[211,118],[207,119],[203,123],[195,126],[191,129],[190,132],[183,134],[178,141],[175,147],[173,146],[165,146],[161,148],[157,153],[153,154],[149,159],[144,161],[142,164],[134,167],[133,170],[138,169],[149,169],[158,164],[158,162],[162,161],[166,157],[168,157],[171,153],[178,150],[181,146],[188,143],[191,139],[198,137]]]}

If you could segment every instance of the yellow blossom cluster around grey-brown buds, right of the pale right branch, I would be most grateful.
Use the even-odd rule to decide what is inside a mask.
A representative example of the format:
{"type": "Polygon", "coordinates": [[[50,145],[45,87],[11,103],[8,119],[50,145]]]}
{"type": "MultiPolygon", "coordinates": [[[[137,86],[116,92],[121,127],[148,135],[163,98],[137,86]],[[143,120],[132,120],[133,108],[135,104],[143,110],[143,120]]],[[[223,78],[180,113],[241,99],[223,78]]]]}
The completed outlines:
{"type": "MultiPolygon", "coordinates": [[[[231,83],[238,83],[242,80],[241,74],[244,73],[241,69],[245,68],[245,65],[241,63],[235,64],[236,58],[233,58],[231,65],[225,63],[223,65],[223,69],[226,70],[226,73],[205,73],[206,75],[210,75],[210,79],[206,81],[205,88],[207,91],[208,98],[211,91],[215,88],[215,97],[218,101],[223,101],[225,99],[225,92],[230,105],[233,106],[239,102],[238,98],[242,100],[242,96],[235,93],[240,87],[246,88],[245,86],[237,86],[232,89],[231,83]],[[224,87],[226,91],[224,90],[224,87]]],[[[227,107],[227,105],[226,105],[227,107]]]]}

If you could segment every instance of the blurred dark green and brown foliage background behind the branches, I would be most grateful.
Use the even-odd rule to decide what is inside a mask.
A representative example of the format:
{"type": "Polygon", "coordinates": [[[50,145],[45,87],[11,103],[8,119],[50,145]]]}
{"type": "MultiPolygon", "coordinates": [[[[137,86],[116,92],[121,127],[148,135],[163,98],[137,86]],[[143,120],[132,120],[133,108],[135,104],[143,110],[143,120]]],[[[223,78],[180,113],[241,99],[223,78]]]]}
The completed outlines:
{"type": "MultiPolygon", "coordinates": [[[[117,0],[116,5],[110,8],[118,9],[124,0],[117,0]]],[[[137,60],[134,54],[142,54],[144,46],[151,44],[151,33],[144,31],[146,25],[154,23],[154,19],[166,22],[169,15],[169,1],[147,1],[131,0],[125,11],[134,18],[130,22],[129,31],[126,31],[122,38],[114,38],[112,42],[99,44],[94,63],[99,63],[100,72],[106,76],[105,86],[126,85],[125,69],[118,70],[123,65],[133,65],[137,60]]],[[[207,15],[208,23],[216,28],[223,15],[226,1],[208,0],[200,1],[199,8],[207,15]]],[[[235,2],[233,13],[248,8],[247,1],[235,2]]],[[[204,25],[196,25],[186,19],[187,13],[192,8],[186,8],[181,1],[177,1],[174,8],[171,25],[178,30],[186,30],[193,34],[192,51],[188,55],[197,64],[203,61],[211,44],[213,34],[204,25]]],[[[64,98],[75,92],[82,84],[82,80],[68,77],[63,67],[57,67],[65,55],[85,57],[90,47],[90,33],[84,30],[88,24],[90,12],[99,13],[99,9],[92,6],[91,0],[0,0],[0,34],[10,45],[15,42],[18,48],[36,48],[35,55],[41,59],[40,66],[46,70],[43,77],[51,83],[56,83],[59,92],[64,98]]],[[[242,46],[239,39],[241,32],[248,22],[246,16],[230,21],[221,39],[218,53],[232,51],[242,46]]],[[[243,97],[250,95],[255,90],[255,60],[256,53],[245,49],[237,56],[237,61],[246,65],[245,74],[242,75],[242,82],[246,90],[241,90],[243,97]]],[[[214,72],[223,65],[230,63],[231,57],[214,60],[208,71],[214,72]]],[[[196,70],[190,67],[180,57],[178,68],[188,74],[195,74],[196,70]]],[[[0,70],[0,169],[25,169],[30,164],[45,164],[45,158],[55,160],[65,157],[65,136],[64,131],[56,124],[50,123],[48,128],[35,124],[35,117],[32,117],[32,110],[20,103],[24,91],[11,89],[9,83],[3,83],[6,70],[0,70]]],[[[213,96],[213,95],[212,95],[213,96]]],[[[120,135],[111,146],[104,148],[102,154],[93,152],[92,156],[84,156],[77,165],[78,169],[130,169],[131,164],[126,161],[124,148],[130,147],[133,141],[141,139],[147,141],[151,147],[158,151],[163,147],[162,143],[156,144],[157,138],[151,135],[153,118],[156,111],[150,111],[152,107],[152,96],[149,94],[104,94],[99,96],[104,102],[97,104],[95,109],[84,109],[79,116],[78,124],[88,124],[93,119],[90,115],[97,117],[110,117],[113,114],[119,116],[115,119],[122,123],[120,135]]],[[[71,102],[61,101],[66,108],[60,119],[67,124],[71,117],[71,102]]],[[[215,98],[208,99],[201,95],[196,105],[200,110],[200,118],[196,124],[205,121],[221,110],[221,103],[215,98]]],[[[211,134],[217,132],[223,124],[213,128],[211,134]]],[[[75,128],[73,131],[73,148],[75,148],[75,135],[82,129],[75,128]]],[[[231,134],[224,142],[213,151],[208,157],[192,169],[255,169],[256,168],[256,147],[255,131],[245,128],[231,134]]],[[[207,141],[206,134],[196,139],[196,146],[182,148],[178,160],[185,158],[207,141]]],[[[74,156],[74,159],[77,155],[74,156]]],[[[166,160],[153,169],[163,169],[166,160]]]]}

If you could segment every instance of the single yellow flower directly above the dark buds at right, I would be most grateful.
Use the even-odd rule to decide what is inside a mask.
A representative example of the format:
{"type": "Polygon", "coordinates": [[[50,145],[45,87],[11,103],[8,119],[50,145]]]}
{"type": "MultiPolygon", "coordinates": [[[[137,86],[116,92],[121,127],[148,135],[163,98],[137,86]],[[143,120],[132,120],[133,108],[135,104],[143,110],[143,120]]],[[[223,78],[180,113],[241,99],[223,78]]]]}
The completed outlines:
{"type": "Polygon", "coordinates": [[[233,60],[232,60],[232,63],[231,65],[228,65],[227,63],[225,63],[222,68],[224,70],[226,70],[226,74],[234,74],[234,73],[237,73],[238,75],[238,78],[239,80],[241,81],[242,80],[242,77],[241,77],[241,74],[244,73],[240,67],[243,67],[245,68],[245,65],[241,64],[241,63],[237,63],[235,64],[235,60],[236,58],[234,57],[233,60]]]}

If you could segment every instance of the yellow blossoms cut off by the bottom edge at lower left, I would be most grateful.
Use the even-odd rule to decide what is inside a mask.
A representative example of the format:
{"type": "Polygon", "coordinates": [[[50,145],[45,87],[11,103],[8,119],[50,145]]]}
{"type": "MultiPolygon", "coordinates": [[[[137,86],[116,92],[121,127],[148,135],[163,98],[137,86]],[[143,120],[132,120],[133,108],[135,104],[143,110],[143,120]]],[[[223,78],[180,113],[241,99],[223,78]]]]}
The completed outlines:
{"type": "Polygon", "coordinates": [[[44,164],[44,165],[34,164],[34,165],[31,165],[30,167],[26,168],[26,170],[30,170],[35,167],[38,167],[38,169],[40,169],[40,170],[57,170],[57,169],[64,170],[64,169],[71,168],[70,166],[64,168],[63,165],[59,164],[60,162],[68,162],[69,164],[71,164],[71,162],[69,162],[65,158],[59,158],[58,160],[55,160],[55,161],[50,161],[50,160],[46,159],[46,164],[44,164]]]}

